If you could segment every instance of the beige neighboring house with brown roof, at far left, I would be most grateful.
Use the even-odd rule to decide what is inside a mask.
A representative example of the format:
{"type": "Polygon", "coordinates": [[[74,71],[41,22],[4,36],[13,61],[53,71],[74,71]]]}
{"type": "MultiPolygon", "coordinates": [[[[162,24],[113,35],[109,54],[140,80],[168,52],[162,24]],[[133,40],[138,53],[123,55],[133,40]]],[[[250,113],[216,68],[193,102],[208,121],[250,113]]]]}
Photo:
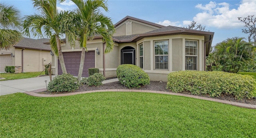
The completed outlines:
{"type": "Polygon", "coordinates": [[[5,66],[15,66],[16,73],[43,71],[44,65],[52,61],[51,47],[45,42],[49,42],[49,39],[23,38],[14,48],[1,50],[0,71],[3,72],[5,66]]]}

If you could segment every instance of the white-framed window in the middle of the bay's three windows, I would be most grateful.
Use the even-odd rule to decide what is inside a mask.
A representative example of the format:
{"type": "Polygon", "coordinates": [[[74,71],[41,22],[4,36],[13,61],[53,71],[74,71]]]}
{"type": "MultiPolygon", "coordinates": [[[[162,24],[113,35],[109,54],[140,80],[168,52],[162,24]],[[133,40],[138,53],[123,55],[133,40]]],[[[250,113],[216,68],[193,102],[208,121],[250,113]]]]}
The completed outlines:
{"type": "Polygon", "coordinates": [[[155,69],[168,70],[168,40],[154,41],[155,69]]]}

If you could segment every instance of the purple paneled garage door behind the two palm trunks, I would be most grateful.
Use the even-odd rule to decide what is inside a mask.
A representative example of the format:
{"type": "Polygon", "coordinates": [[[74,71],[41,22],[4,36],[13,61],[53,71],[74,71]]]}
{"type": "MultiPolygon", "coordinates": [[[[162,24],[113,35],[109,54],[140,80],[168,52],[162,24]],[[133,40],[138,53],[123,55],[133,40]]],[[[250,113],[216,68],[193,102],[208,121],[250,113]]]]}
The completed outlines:
{"type": "MultiPolygon", "coordinates": [[[[81,52],[63,52],[63,58],[64,58],[67,72],[74,76],[78,76],[81,52]]],[[[82,77],[89,76],[88,68],[95,68],[95,52],[94,51],[85,52],[84,70],[83,70],[82,77]]],[[[58,74],[62,74],[60,61],[58,61],[58,74]]]]}

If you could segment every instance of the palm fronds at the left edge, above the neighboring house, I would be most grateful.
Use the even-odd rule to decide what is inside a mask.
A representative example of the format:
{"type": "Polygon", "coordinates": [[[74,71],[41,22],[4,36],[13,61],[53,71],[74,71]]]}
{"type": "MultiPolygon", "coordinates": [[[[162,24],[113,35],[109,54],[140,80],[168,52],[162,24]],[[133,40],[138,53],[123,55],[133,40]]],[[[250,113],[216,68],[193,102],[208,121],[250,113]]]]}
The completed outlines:
{"type": "Polygon", "coordinates": [[[20,12],[13,6],[0,3],[0,50],[8,50],[22,39],[20,12]]]}

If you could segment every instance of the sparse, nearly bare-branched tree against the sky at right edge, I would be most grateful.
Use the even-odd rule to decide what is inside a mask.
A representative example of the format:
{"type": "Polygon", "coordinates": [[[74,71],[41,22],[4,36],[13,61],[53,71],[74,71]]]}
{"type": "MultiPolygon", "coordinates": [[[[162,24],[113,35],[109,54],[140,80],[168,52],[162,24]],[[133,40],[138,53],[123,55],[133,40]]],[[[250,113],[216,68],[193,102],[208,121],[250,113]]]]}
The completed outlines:
{"type": "Polygon", "coordinates": [[[251,40],[253,42],[256,42],[256,17],[254,17],[254,15],[249,15],[247,17],[238,17],[238,20],[240,20],[241,22],[244,22],[246,27],[245,29],[242,29],[242,32],[249,34],[248,35],[248,41],[251,42],[251,40]]]}

